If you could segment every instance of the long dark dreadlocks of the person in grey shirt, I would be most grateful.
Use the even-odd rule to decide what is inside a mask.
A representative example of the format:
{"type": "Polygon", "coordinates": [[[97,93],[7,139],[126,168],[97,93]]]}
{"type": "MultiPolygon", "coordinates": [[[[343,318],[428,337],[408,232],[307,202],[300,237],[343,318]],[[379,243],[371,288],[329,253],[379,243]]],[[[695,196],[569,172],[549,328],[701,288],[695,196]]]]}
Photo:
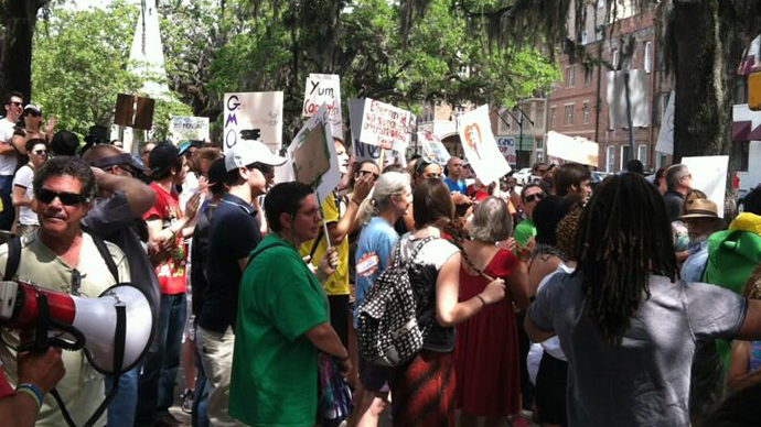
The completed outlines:
{"type": "Polygon", "coordinates": [[[587,315],[602,340],[620,346],[651,274],[678,275],[672,228],[657,189],[636,174],[605,179],[589,200],[579,226],[578,262],[587,315]]]}

